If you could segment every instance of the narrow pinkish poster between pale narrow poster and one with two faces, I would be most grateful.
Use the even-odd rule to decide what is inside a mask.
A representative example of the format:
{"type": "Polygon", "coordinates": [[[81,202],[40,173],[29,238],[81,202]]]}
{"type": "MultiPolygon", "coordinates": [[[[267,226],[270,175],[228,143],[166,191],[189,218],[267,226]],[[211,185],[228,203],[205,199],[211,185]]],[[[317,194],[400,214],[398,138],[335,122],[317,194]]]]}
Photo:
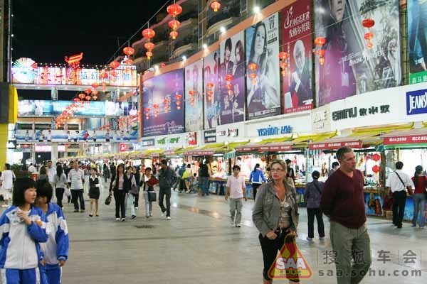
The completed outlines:
{"type": "Polygon", "coordinates": [[[203,60],[204,74],[204,128],[213,129],[221,125],[221,99],[219,84],[219,50],[207,55],[203,60]]]}

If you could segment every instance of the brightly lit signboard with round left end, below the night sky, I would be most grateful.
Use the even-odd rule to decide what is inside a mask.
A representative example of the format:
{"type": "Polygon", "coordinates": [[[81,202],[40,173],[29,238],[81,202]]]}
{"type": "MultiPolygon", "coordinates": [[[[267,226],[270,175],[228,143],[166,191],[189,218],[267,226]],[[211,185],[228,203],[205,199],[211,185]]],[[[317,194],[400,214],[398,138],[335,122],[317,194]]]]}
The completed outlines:
{"type": "Polygon", "coordinates": [[[94,68],[41,67],[30,58],[19,58],[12,65],[12,82],[90,85],[104,81],[107,86],[137,87],[137,70],[134,65],[122,65],[116,70],[106,70],[106,79],[100,79],[100,72],[102,70],[94,68]]]}

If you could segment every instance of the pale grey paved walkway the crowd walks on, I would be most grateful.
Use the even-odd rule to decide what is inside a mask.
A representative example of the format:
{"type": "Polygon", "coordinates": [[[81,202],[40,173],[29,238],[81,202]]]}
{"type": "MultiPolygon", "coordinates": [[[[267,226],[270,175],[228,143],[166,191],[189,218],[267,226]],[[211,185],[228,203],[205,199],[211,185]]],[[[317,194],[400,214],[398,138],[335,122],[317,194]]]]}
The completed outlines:
{"type": "MultiPolygon", "coordinates": [[[[88,202],[85,213],[73,213],[73,205],[65,203],[71,243],[63,283],[262,283],[263,258],[251,221],[253,200],[244,204],[242,227],[235,228],[228,222],[228,203],[216,195],[173,192],[172,220],[160,217],[158,205],[153,204],[154,217],[146,219],[140,206],[137,219],[126,222],[115,221],[114,200],[106,206],[105,193],[102,197],[100,217],[88,216],[88,202]]],[[[323,260],[325,250],[331,249],[326,218],[325,226],[325,241],[317,235],[312,243],[306,241],[307,214],[300,209],[297,244],[314,273],[302,283],[336,283],[327,276],[334,273],[334,266],[323,260]],[[322,271],[325,276],[321,277],[322,271]]],[[[388,220],[378,218],[369,218],[368,226],[376,276],[367,276],[362,283],[425,283],[427,259],[423,261],[421,254],[427,258],[427,230],[410,224],[395,229],[388,220]],[[409,249],[416,253],[416,263],[404,263],[403,254],[409,249]],[[390,261],[379,261],[381,250],[390,251],[385,253],[390,261]],[[422,275],[411,276],[417,270],[422,275]],[[393,276],[394,271],[408,276],[393,276]]]]}

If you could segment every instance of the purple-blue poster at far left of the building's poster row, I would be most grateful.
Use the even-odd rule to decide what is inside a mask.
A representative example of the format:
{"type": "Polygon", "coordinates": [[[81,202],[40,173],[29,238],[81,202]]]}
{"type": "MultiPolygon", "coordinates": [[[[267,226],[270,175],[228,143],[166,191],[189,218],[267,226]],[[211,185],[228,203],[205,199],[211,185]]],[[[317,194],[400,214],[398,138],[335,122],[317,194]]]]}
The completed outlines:
{"type": "Polygon", "coordinates": [[[184,132],[184,70],[144,81],[144,136],[184,132]]]}

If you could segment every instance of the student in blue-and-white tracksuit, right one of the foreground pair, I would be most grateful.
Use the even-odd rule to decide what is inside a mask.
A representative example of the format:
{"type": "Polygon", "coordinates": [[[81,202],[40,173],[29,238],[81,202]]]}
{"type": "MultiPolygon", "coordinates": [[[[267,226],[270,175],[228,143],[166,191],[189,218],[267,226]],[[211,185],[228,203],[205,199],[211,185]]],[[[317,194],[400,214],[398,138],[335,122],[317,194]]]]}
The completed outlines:
{"type": "Polygon", "coordinates": [[[48,241],[41,244],[41,283],[60,284],[62,267],[68,259],[68,227],[65,216],[57,204],[51,202],[53,189],[48,182],[37,183],[37,206],[48,221],[48,241]]]}

